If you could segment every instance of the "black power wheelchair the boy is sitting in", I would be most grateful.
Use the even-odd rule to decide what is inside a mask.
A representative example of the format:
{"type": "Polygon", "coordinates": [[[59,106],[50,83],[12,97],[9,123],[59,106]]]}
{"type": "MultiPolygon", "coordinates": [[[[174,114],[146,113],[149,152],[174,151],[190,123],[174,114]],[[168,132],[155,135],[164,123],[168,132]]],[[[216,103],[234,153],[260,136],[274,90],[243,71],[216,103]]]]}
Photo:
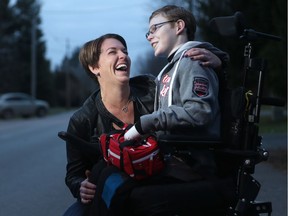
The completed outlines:
{"type": "MultiPolygon", "coordinates": [[[[255,172],[256,165],[267,160],[269,157],[269,152],[262,147],[262,137],[259,135],[258,123],[261,105],[283,106],[284,104],[281,100],[268,99],[262,96],[266,62],[260,58],[252,58],[251,52],[252,42],[258,38],[272,40],[280,40],[280,38],[251,29],[244,29],[242,19],[242,14],[237,12],[233,16],[218,17],[210,21],[211,27],[221,35],[229,36],[231,34],[238,34],[242,40],[247,41],[244,49],[243,85],[235,89],[223,88],[223,86],[226,86],[225,75],[221,74],[219,78],[223,81],[223,83],[221,83],[223,86],[220,98],[222,113],[224,113],[224,115],[222,115],[221,139],[197,140],[195,138],[191,139],[188,135],[186,137],[165,135],[160,136],[158,139],[159,145],[165,146],[169,149],[169,152],[173,154],[189,155],[191,146],[195,149],[212,151],[219,168],[218,175],[220,185],[225,188],[226,179],[231,179],[233,184],[232,187],[229,187],[231,191],[229,191],[226,198],[224,197],[226,194],[223,195],[223,197],[211,197],[215,199],[212,201],[215,202],[215,205],[211,205],[211,200],[207,201],[207,203],[205,203],[205,201],[204,203],[198,203],[197,200],[195,200],[195,203],[191,203],[191,205],[199,205],[196,209],[193,209],[193,207],[190,208],[190,204],[186,203],[183,207],[179,207],[179,211],[171,212],[169,211],[169,206],[166,206],[166,209],[165,207],[159,209],[155,213],[149,214],[149,216],[260,216],[261,214],[271,215],[272,213],[271,202],[256,201],[261,184],[253,178],[252,174],[255,172]],[[225,29],[228,31],[225,31],[225,29]],[[252,87],[250,89],[248,83],[251,73],[258,74],[258,79],[256,80],[256,84],[253,83],[251,85],[252,87]],[[222,179],[224,180],[223,182],[221,182],[222,179]],[[218,205],[217,199],[221,198],[224,198],[225,201],[220,202],[221,204],[218,205]],[[190,212],[188,212],[187,209],[181,209],[186,207],[191,209],[191,211],[189,210],[190,212]],[[206,211],[205,208],[213,209],[206,211]]],[[[249,85],[250,84],[251,83],[249,83],[249,85]]],[[[87,146],[94,148],[90,143],[85,143],[85,141],[79,140],[77,137],[73,137],[66,132],[59,132],[58,136],[63,140],[73,140],[75,143],[83,144],[84,142],[87,146]]],[[[206,186],[209,187],[209,185],[205,184],[199,185],[200,190],[205,189],[206,186]]],[[[190,188],[189,185],[180,188],[181,186],[179,187],[179,185],[174,187],[169,184],[166,184],[165,187],[170,187],[174,191],[178,189],[180,191],[189,190],[190,188]]],[[[191,188],[192,191],[199,192],[199,190],[195,190],[195,187],[191,188]]],[[[144,191],[148,189],[149,188],[145,188],[145,186],[142,188],[144,191]]],[[[151,195],[153,195],[154,189],[157,190],[157,187],[152,188],[151,195]]],[[[187,192],[189,193],[189,191],[183,192],[186,195],[187,192]]],[[[203,191],[203,193],[205,192],[209,193],[209,189],[203,191]]],[[[179,193],[178,191],[178,195],[179,193]]],[[[183,202],[185,202],[185,197],[183,198],[183,202]]],[[[127,212],[127,215],[136,216],[136,213],[129,214],[127,212]]]]}

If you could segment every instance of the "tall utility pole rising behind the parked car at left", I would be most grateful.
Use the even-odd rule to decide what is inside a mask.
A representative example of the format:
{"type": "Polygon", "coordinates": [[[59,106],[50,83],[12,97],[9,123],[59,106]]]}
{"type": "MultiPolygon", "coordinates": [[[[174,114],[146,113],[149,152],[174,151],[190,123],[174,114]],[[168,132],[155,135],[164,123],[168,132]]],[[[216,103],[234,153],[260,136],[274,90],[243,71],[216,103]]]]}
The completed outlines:
{"type": "Polygon", "coordinates": [[[32,18],[31,25],[31,96],[36,98],[36,18],[32,18]]]}

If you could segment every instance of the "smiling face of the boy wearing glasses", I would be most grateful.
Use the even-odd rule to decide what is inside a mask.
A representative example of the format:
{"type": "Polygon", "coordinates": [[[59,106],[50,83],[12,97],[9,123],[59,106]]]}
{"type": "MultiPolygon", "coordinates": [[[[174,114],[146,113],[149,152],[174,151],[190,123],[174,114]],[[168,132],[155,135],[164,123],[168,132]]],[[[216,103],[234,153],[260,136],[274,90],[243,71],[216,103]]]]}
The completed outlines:
{"type": "Polygon", "coordinates": [[[147,40],[154,49],[155,56],[168,57],[177,46],[177,24],[162,15],[150,20],[147,40]]]}

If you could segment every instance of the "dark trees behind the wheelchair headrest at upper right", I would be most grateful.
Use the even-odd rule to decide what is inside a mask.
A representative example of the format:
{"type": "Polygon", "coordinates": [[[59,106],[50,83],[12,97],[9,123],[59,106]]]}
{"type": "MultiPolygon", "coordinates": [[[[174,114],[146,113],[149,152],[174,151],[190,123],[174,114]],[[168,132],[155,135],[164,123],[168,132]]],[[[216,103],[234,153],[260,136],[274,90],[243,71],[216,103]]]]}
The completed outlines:
{"type": "Polygon", "coordinates": [[[211,30],[207,23],[213,17],[231,16],[241,11],[246,19],[246,27],[256,31],[281,36],[281,42],[259,40],[253,43],[255,56],[268,60],[265,79],[266,94],[287,97],[287,1],[223,0],[198,1],[198,17],[203,40],[227,51],[231,56],[228,71],[230,80],[236,84],[241,78],[244,41],[238,38],[223,38],[211,30]],[[257,8],[257,12],[255,11],[257,8]],[[279,58],[280,56],[280,58],[279,58]]]}

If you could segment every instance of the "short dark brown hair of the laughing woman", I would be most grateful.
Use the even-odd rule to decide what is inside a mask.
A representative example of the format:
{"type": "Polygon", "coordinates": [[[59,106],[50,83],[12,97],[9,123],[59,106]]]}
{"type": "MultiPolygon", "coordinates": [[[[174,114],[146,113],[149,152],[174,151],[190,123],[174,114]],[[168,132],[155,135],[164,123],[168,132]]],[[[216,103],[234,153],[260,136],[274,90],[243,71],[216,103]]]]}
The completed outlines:
{"type": "Polygon", "coordinates": [[[119,40],[123,44],[123,46],[127,49],[126,41],[122,36],[118,34],[109,33],[102,35],[94,40],[86,42],[79,52],[79,61],[81,65],[83,66],[87,74],[95,81],[97,81],[97,78],[93,73],[91,73],[89,66],[98,67],[99,57],[101,53],[101,46],[103,42],[109,38],[119,40]]]}

